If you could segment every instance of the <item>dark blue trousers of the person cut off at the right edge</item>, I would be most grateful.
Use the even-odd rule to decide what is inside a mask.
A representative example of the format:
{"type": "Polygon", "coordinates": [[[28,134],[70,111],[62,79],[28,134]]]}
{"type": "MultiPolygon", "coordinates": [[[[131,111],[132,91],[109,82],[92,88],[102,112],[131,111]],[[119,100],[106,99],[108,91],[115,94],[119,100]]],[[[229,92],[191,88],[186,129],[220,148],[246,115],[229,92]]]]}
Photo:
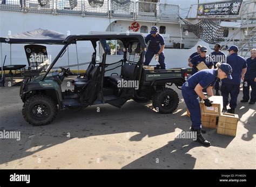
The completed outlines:
{"type": "Polygon", "coordinates": [[[247,101],[250,99],[250,86],[252,88],[251,101],[256,102],[256,82],[254,82],[254,77],[246,77],[244,79],[244,84],[242,85],[242,93],[244,96],[242,96],[242,99],[247,101]]]}

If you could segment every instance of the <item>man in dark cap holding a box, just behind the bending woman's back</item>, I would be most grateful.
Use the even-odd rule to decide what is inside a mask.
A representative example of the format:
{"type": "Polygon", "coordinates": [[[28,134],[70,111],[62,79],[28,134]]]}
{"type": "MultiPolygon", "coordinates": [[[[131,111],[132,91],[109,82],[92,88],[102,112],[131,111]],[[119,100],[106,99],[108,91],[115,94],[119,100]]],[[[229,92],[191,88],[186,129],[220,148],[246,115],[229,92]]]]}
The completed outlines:
{"type": "Polygon", "coordinates": [[[192,64],[192,75],[194,73],[197,73],[198,72],[198,69],[197,69],[197,65],[203,61],[205,63],[205,65],[209,68],[209,69],[212,69],[213,68],[213,60],[210,56],[206,55],[206,52],[207,52],[207,48],[206,47],[201,47],[200,49],[200,54],[197,55],[197,56],[194,56],[190,62],[192,64]]]}

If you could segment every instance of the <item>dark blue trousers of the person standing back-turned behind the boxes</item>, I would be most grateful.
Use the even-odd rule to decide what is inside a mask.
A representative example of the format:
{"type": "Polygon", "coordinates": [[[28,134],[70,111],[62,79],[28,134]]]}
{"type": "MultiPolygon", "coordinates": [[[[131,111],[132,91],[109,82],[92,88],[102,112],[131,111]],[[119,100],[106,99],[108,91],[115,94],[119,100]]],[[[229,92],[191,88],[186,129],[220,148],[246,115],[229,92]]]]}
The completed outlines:
{"type": "Polygon", "coordinates": [[[237,107],[237,97],[240,91],[240,85],[235,84],[225,84],[222,82],[221,88],[221,95],[223,96],[223,106],[227,106],[229,95],[231,97],[230,100],[230,108],[237,107]]]}

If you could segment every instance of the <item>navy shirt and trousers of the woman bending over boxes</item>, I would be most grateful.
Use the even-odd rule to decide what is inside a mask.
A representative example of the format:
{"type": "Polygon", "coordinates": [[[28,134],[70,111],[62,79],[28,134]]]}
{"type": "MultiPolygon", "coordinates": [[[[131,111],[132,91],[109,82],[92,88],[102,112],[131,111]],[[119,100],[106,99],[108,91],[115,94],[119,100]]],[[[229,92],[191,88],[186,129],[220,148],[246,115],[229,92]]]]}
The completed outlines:
{"type": "Polygon", "coordinates": [[[206,89],[209,86],[213,86],[217,81],[218,70],[201,70],[193,74],[181,87],[181,92],[186,103],[187,109],[190,112],[190,119],[192,121],[193,129],[201,128],[201,111],[199,104],[199,96],[194,88],[197,84],[206,89]]]}

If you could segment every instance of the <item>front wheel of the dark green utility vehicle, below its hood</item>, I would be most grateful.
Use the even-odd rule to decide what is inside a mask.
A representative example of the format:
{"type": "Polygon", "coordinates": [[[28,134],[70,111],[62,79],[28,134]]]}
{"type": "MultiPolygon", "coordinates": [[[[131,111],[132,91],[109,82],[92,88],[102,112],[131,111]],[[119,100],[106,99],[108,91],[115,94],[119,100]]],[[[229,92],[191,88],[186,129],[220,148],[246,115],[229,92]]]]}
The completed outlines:
{"type": "Polygon", "coordinates": [[[24,119],[34,126],[44,126],[55,119],[56,103],[47,95],[33,95],[25,101],[22,109],[24,119]]]}

